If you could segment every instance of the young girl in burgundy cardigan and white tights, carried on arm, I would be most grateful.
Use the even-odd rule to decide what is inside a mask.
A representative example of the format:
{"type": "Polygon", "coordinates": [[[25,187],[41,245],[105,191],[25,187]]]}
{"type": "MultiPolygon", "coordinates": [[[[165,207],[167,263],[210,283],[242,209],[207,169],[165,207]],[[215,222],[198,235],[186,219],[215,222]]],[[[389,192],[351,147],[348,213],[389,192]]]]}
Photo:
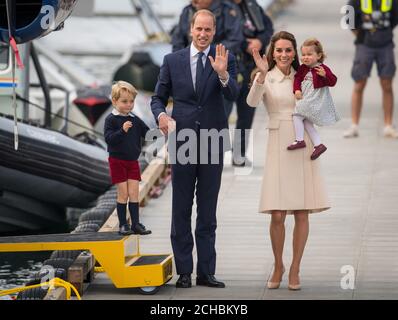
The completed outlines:
{"type": "Polygon", "coordinates": [[[327,149],[321,143],[314,124],[331,125],[340,119],[329,91],[329,87],[336,84],[337,77],[323,64],[325,56],[322,44],[317,39],[304,41],[301,46],[303,64],[294,76],[293,92],[297,103],[293,113],[293,123],[296,140],[287,149],[296,150],[306,147],[305,129],[314,144],[311,160],[317,159],[327,149]]]}

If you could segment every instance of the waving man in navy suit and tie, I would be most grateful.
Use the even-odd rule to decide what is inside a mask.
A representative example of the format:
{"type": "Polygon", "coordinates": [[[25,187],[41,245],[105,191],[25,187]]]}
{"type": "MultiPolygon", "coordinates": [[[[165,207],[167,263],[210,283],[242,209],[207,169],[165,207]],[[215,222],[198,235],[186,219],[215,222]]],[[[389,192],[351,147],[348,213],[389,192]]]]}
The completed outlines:
{"type": "Polygon", "coordinates": [[[210,11],[199,10],[194,14],[191,21],[192,43],[164,57],[151,101],[160,130],[167,134],[171,127],[176,128],[173,135],[169,135],[169,152],[171,157],[175,157],[174,161],[171,160],[171,243],[179,274],[176,283],[178,288],[192,286],[194,241],[191,215],[194,195],[197,204],[196,284],[225,287],[214,276],[216,208],[226,151],[224,146],[228,144],[225,140],[229,139],[228,134],[221,134],[228,132],[223,97],[235,100],[239,88],[234,56],[222,44],[215,47],[210,45],[215,35],[215,25],[215,16],[210,11]],[[171,117],[165,109],[170,96],[173,97],[171,117]],[[173,149],[170,148],[172,136],[174,151],[170,150],[173,149]],[[207,144],[209,140],[211,147],[207,144]],[[186,161],[187,154],[189,161],[186,161]]]}

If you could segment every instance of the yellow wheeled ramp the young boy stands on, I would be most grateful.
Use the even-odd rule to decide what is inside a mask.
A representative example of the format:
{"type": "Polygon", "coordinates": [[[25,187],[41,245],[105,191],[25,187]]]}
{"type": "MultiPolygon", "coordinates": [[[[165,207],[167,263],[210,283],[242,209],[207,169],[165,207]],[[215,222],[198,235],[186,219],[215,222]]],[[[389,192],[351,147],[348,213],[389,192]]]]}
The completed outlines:
{"type": "Polygon", "coordinates": [[[0,237],[0,252],[89,250],[116,288],[154,294],[173,277],[171,254],[143,255],[139,236],[117,232],[0,237]]]}

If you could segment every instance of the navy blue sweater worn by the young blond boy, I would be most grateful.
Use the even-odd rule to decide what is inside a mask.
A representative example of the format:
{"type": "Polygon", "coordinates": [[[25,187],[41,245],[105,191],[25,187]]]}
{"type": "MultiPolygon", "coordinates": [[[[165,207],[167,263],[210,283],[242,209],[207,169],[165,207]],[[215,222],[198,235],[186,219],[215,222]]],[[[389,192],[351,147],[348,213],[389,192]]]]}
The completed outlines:
{"type": "Polygon", "coordinates": [[[104,136],[108,144],[109,156],[121,160],[137,160],[141,153],[141,138],[145,138],[149,128],[137,116],[110,114],[105,119],[104,136]],[[131,121],[133,126],[123,130],[123,123],[131,121]]]}

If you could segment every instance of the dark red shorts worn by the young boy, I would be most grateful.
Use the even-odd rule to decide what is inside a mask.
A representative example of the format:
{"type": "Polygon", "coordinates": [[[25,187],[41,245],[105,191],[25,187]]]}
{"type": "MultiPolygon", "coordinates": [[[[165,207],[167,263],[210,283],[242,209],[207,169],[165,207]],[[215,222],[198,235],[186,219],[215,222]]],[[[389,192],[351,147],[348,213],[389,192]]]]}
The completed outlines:
{"type": "Polygon", "coordinates": [[[140,165],[137,160],[121,160],[109,157],[108,161],[112,184],[127,180],[141,181],[140,165]]]}

